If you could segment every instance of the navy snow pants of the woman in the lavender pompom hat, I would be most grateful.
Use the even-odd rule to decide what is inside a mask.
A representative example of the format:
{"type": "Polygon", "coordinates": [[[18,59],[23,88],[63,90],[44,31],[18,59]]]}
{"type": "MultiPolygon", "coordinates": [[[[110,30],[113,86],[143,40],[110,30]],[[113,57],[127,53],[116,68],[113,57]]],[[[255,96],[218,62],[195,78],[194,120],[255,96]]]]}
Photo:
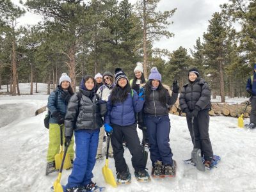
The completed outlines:
{"type": "Polygon", "coordinates": [[[147,126],[152,166],[154,166],[157,160],[162,161],[163,164],[173,164],[173,154],[169,144],[171,129],[169,116],[145,115],[144,123],[147,126]]]}

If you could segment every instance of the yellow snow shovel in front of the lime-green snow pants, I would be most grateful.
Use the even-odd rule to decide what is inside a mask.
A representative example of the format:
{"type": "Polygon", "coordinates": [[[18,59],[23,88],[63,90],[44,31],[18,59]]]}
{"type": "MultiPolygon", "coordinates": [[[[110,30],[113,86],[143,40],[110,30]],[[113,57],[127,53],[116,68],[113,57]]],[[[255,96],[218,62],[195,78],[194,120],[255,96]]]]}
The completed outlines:
{"type": "MultiPolygon", "coordinates": [[[[56,168],[56,170],[60,169],[61,162],[62,162],[62,159],[63,159],[63,154],[64,154],[64,152],[63,152],[63,140],[62,140],[62,137],[63,137],[62,128],[63,128],[63,124],[60,125],[60,152],[55,155],[55,168],[56,168]]],[[[65,158],[65,161],[64,161],[63,168],[65,170],[67,170],[71,167],[72,167],[72,164],[71,164],[70,156],[69,156],[69,154],[67,154],[67,157],[65,158]]]]}

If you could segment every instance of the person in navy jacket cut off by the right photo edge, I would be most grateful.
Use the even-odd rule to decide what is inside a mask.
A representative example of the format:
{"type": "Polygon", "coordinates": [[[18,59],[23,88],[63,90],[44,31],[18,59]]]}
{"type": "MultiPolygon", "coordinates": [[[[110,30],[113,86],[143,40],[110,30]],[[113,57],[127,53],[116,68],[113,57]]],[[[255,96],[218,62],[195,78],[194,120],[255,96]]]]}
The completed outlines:
{"type": "Polygon", "coordinates": [[[254,64],[253,76],[248,78],[246,84],[246,92],[251,96],[251,115],[250,115],[250,124],[248,127],[251,129],[255,128],[256,125],[256,63],[254,64]]]}

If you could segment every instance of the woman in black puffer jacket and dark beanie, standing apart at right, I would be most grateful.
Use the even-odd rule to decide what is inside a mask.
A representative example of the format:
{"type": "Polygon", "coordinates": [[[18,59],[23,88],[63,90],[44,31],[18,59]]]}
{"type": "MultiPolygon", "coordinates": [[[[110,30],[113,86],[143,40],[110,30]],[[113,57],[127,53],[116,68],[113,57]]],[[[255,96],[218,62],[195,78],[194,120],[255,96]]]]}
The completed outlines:
{"type": "Polygon", "coordinates": [[[211,109],[211,90],[204,79],[199,77],[197,68],[188,71],[188,84],[180,93],[180,109],[186,113],[188,129],[193,140],[194,148],[200,148],[205,159],[205,166],[211,166],[213,152],[209,137],[209,110],[211,109]],[[193,118],[193,126],[192,126],[193,118]]]}

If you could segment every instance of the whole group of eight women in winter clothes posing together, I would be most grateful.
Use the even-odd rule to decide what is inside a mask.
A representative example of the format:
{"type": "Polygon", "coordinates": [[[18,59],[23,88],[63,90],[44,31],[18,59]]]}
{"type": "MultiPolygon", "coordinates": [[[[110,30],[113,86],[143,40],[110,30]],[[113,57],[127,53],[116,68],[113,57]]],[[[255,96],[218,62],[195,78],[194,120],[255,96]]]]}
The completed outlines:
{"type": "MultiPolygon", "coordinates": [[[[189,83],[184,85],[180,93],[180,108],[187,115],[190,133],[191,119],[194,119],[194,148],[201,148],[205,162],[211,164],[213,154],[209,139],[208,114],[211,108],[211,92],[204,79],[199,77],[196,68],[189,70],[188,81],[189,83]]],[[[70,78],[67,74],[63,74],[60,77],[60,86],[57,88],[58,100],[56,101],[54,92],[48,100],[51,118],[47,166],[54,165],[54,152],[57,154],[60,147],[59,140],[53,137],[58,124],[65,124],[65,146],[69,146],[68,153],[72,160],[73,145],[74,141],[76,142],[76,159],[72,161],[73,168],[65,186],[66,191],[92,191],[97,187],[92,182],[92,170],[96,157],[102,155],[104,131],[111,138],[112,148],[109,151],[115,159],[116,179],[131,178],[124,159],[124,140],[132,156],[135,175],[140,179],[150,179],[136,121],[140,129],[147,130],[146,142],[150,146],[150,159],[154,168],[152,174],[174,174],[175,164],[169,144],[171,126],[168,113],[169,106],[175,104],[179,95],[177,81],[172,84],[172,96],[170,96],[162,84],[161,74],[157,68],[153,67],[150,70],[146,80],[143,76],[143,67],[138,63],[134,68],[134,78],[130,82],[125,72],[121,68],[116,68],[115,76],[111,72],[104,72],[102,76],[100,74],[96,74],[95,77],[84,76],[77,93],[72,92],[70,84],[70,78]],[[102,84],[100,84],[101,77],[102,84]],[[105,102],[107,110],[102,111],[100,105],[105,102]]],[[[55,136],[58,137],[58,134],[55,136]]]]}

